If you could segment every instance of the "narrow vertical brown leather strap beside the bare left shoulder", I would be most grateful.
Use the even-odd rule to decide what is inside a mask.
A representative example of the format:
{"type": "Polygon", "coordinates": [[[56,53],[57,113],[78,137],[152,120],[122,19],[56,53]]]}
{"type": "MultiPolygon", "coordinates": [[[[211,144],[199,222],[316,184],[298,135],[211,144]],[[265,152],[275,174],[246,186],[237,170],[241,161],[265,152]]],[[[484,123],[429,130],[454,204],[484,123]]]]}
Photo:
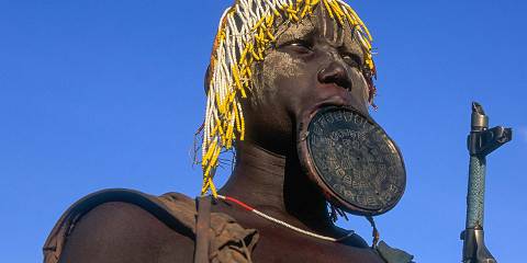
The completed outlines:
{"type": "Polygon", "coordinates": [[[194,263],[209,262],[209,229],[211,227],[211,198],[198,197],[198,222],[195,224],[194,263]]]}

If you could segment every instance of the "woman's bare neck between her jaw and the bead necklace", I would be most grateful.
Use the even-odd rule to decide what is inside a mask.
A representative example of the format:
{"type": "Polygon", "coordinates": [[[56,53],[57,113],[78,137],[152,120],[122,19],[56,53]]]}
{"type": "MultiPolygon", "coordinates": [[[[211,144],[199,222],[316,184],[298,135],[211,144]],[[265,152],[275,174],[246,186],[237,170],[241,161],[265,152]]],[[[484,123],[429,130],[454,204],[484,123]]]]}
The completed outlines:
{"type": "Polygon", "coordinates": [[[276,155],[243,141],[236,155],[234,172],[220,193],[289,224],[318,231],[333,228],[326,201],[302,172],[295,153],[276,155]]]}

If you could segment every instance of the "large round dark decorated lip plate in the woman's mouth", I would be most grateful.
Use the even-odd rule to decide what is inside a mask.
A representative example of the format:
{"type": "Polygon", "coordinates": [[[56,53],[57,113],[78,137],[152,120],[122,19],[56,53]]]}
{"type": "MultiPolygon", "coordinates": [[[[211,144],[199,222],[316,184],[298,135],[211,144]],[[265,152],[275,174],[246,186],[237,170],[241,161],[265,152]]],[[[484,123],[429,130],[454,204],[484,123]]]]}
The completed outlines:
{"type": "Polygon", "coordinates": [[[304,170],[335,206],[362,216],[392,209],[404,194],[406,171],[395,142],[370,117],[323,107],[301,125],[304,170]]]}

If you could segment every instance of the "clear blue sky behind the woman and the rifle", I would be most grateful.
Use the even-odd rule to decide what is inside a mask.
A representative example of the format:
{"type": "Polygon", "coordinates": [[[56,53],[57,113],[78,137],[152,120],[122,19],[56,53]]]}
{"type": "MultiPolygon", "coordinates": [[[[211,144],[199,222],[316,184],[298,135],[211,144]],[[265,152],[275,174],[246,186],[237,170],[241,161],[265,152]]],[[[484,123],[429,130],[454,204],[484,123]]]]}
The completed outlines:
{"type": "MultiPolygon", "coordinates": [[[[527,3],[348,1],[373,33],[379,111],[407,190],[378,218],[417,262],[459,262],[470,103],[515,130],[489,158],[486,242],[518,262],[527,235],[527,3]]],[[[0,1],[0,248],[40,262],[76,199],[108,187],[197,195],[189,151],[203,73],[232,1],[0,1]]],[[[226,176],[222,175],[220,181],[226,176]]],[[[369,239],[362,218],[339,222],[369,239]]]]}

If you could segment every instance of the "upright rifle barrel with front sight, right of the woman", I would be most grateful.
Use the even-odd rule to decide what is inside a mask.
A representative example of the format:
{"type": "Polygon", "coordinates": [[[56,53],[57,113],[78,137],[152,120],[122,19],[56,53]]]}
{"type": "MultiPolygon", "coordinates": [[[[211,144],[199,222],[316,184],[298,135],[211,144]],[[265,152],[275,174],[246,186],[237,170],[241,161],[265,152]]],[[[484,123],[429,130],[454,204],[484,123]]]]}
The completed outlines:
{"type": "Polygon", "coordinates": [[[467,221],[461,232],[463,263],[496,263],[485,247],[483,232],[486,156],[512,139],[512,128],[496,126],[489,129],[489,117],[483,107],[472,103],[471,130],[467,140],[470,153],[467,221]]]}

